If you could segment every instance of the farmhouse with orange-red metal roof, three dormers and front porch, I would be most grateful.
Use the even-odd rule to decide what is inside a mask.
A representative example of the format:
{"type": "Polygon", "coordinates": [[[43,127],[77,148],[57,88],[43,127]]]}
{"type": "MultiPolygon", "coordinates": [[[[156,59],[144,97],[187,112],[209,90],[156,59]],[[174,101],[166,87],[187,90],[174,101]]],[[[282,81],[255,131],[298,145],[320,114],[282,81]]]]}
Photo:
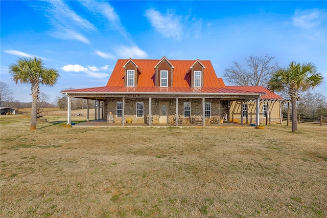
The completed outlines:
{"type": "Polygon", "coordinates": [[[68,105],[71,97],[96,100],[99,119],[101,114],[108,123],[122,125],[133,122],[204,126],[223,119],[260,125],[279,122],[279,100],[283,100],[262,86],[226,86],[209,60],[166,57],[119,59],[105,86],[61,93],[68,96],[68,105]]]}

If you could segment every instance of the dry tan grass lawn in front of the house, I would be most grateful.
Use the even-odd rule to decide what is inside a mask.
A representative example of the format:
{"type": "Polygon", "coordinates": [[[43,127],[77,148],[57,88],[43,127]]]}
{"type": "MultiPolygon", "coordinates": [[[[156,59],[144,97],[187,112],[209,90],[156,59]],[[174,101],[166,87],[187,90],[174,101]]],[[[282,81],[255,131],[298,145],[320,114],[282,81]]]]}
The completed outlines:
{"type": "Polygon", "coordinates": [[[65,117],[45,118],[30,132],[29,117],[0,116],[1,217],[327,217],[326,126],[64,128],[65,117]]]}

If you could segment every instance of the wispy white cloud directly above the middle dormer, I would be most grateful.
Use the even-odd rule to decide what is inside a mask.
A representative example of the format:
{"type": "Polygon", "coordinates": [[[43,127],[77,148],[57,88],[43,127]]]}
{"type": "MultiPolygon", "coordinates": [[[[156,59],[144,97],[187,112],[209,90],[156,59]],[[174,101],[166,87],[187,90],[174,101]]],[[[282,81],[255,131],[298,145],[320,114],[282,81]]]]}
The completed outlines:
{"type": "Polygon", "coordinates": [[[167,14],[161,14],[154,9],[145,11],[145,16],[149,19],[152,27],[165,37],[172,37],[176,40],[181,39],[182,25],[180,17],[169,11],[167,14]]]}

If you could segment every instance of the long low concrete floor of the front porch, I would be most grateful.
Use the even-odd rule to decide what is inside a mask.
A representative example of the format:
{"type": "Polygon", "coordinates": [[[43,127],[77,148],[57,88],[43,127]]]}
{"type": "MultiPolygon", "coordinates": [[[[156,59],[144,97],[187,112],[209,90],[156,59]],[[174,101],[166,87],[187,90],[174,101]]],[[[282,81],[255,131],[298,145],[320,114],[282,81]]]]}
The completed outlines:
{"type": "Polygon", "coordinates": [[[185,127],[214,127],[214,128],[228,128],[228,127],[254,127],[250,126],[250,124],[240,124],[240,123],[232,123],[232,122],[224,122],[222,124],[212,124],[212,123],[206,123],[205,126],[202,126],[202,124],[197,124],[197,123],[183,123],[183,124],[178,124],[176,126],[175,123],[153,123],[151,126],[149,126],[146,123],[124,123],[124,126],[122,123],[107,123],[107,121],[103,120],[91,120],[89,122],[81,122],[81,123],[76,123],[73,125],[73,127],[143,127],[143,128],[167,128],[167,127],[179,127],[179,128],[185,128],[185,127]]]}

